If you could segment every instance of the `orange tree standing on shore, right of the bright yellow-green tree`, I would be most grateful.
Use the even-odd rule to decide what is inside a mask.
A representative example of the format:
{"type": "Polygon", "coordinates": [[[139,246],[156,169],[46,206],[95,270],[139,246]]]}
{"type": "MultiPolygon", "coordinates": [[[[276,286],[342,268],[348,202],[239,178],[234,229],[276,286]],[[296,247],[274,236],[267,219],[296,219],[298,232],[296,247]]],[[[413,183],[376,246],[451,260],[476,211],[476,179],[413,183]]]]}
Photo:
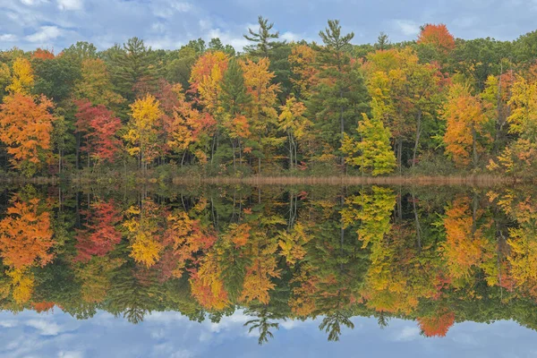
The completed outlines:
{"type": "Polygon", "coordinates": [[[457,166],[477,166],[479,155],[492,140],[485,110],[486,105],[470,93],[468,86],[456,83],[450,87],[441,117],[446,121],[446,152],[457,166]]]}

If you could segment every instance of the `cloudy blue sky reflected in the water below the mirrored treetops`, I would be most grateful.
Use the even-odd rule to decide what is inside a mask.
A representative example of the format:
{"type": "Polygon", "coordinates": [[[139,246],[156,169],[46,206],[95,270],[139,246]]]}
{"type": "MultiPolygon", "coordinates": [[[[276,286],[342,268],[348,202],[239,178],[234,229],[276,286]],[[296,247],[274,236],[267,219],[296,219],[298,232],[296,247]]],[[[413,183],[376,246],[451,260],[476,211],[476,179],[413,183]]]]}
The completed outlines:
{"type": "Polygon", "coordinates": [[[106,312],[90,320],[55,313],[0,313],[0,357],[534,357],[537,332],[513,321],[456,324],[444,338],[426,338],[413,321],[354,318],[341,341],[328,342],[319,320],[282,323],[275,338],[257,345],[235,312],[220,323],[196,323],[176,312],[157,312],[139,325],[106,312]]]}

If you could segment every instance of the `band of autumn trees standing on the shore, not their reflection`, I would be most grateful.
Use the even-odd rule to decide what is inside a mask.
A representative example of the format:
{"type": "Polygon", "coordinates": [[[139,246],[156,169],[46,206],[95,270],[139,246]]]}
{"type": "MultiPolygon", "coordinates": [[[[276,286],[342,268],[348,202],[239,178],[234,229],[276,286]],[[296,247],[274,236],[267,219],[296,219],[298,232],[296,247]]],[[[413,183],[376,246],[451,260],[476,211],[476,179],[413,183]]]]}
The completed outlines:
{"type": "Polygon", "coordinates": [[[244,37],[0,52],[0,176],[536,173],[537,32],[244,37]]]}

